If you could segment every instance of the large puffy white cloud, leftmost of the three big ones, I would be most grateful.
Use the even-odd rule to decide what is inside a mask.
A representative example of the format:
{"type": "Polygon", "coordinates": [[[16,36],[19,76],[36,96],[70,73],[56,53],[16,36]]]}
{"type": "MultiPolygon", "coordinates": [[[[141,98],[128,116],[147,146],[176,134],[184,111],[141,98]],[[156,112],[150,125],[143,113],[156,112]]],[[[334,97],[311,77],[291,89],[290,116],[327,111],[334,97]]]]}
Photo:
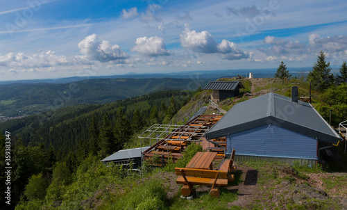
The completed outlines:
{"type": "Polygon", "coordinates": [[[90,60],[108,62],[110,60],[122,60],[128,55],[118,45],[111,45],[110,42],[99,40],[96,34],[87,36],[78,43],[80,53],[90,60]]]}

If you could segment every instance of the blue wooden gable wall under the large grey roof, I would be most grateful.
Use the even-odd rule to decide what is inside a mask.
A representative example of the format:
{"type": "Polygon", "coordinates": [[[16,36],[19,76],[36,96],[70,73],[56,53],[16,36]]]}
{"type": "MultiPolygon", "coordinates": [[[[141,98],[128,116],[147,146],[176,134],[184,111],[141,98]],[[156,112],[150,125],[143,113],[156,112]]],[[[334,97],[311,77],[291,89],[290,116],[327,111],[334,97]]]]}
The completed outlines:
{"type": "Polygon", "coordinates": [[[289,129],[266,124],[227,136],[227,154],[317,159],[317,140],[289,129]]]}

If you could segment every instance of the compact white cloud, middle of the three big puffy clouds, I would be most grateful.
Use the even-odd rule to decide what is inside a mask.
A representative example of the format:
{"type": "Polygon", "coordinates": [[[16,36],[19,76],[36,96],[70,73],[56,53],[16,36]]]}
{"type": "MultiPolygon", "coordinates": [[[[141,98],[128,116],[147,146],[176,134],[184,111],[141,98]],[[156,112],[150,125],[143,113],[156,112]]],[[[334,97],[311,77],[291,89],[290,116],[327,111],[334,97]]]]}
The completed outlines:
{"type": "Polygon", "coordinates": [[[146,36],[136,39],[136,45],[131,49],[132,51],[137,51],[143,56],[168,56],[164,41],[162,38],[157,36],[152,36],[147,38],[146,36]]]}

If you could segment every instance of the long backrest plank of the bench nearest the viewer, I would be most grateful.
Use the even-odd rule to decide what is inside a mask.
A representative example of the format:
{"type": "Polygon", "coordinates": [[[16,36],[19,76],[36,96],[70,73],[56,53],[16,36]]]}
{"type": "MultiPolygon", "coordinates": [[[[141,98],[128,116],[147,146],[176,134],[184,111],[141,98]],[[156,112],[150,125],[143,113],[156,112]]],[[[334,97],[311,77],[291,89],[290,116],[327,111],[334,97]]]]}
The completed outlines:
{"type": "Polygon", "coordinates": [[[188,177],[203,177],[203,178],[215,178],[217,173],[219,174],[219,179],[226,179],[228,177],[228,171],[221,170],[205,170],[196,168],[175,168],[176,175],[180,176],[180,170],[185,172],[188,177]]]}

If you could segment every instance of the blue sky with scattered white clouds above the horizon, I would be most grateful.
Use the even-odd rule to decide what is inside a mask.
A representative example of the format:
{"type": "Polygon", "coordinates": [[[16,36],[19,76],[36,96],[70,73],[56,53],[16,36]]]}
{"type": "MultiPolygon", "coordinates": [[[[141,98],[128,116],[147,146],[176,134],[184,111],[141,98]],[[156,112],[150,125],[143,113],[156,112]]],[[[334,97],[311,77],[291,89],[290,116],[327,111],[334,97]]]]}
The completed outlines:
{"type": "Polygon", "coordinates": [[[1,1],[0,81],[347,60],[346,1],[1,1]]]}

